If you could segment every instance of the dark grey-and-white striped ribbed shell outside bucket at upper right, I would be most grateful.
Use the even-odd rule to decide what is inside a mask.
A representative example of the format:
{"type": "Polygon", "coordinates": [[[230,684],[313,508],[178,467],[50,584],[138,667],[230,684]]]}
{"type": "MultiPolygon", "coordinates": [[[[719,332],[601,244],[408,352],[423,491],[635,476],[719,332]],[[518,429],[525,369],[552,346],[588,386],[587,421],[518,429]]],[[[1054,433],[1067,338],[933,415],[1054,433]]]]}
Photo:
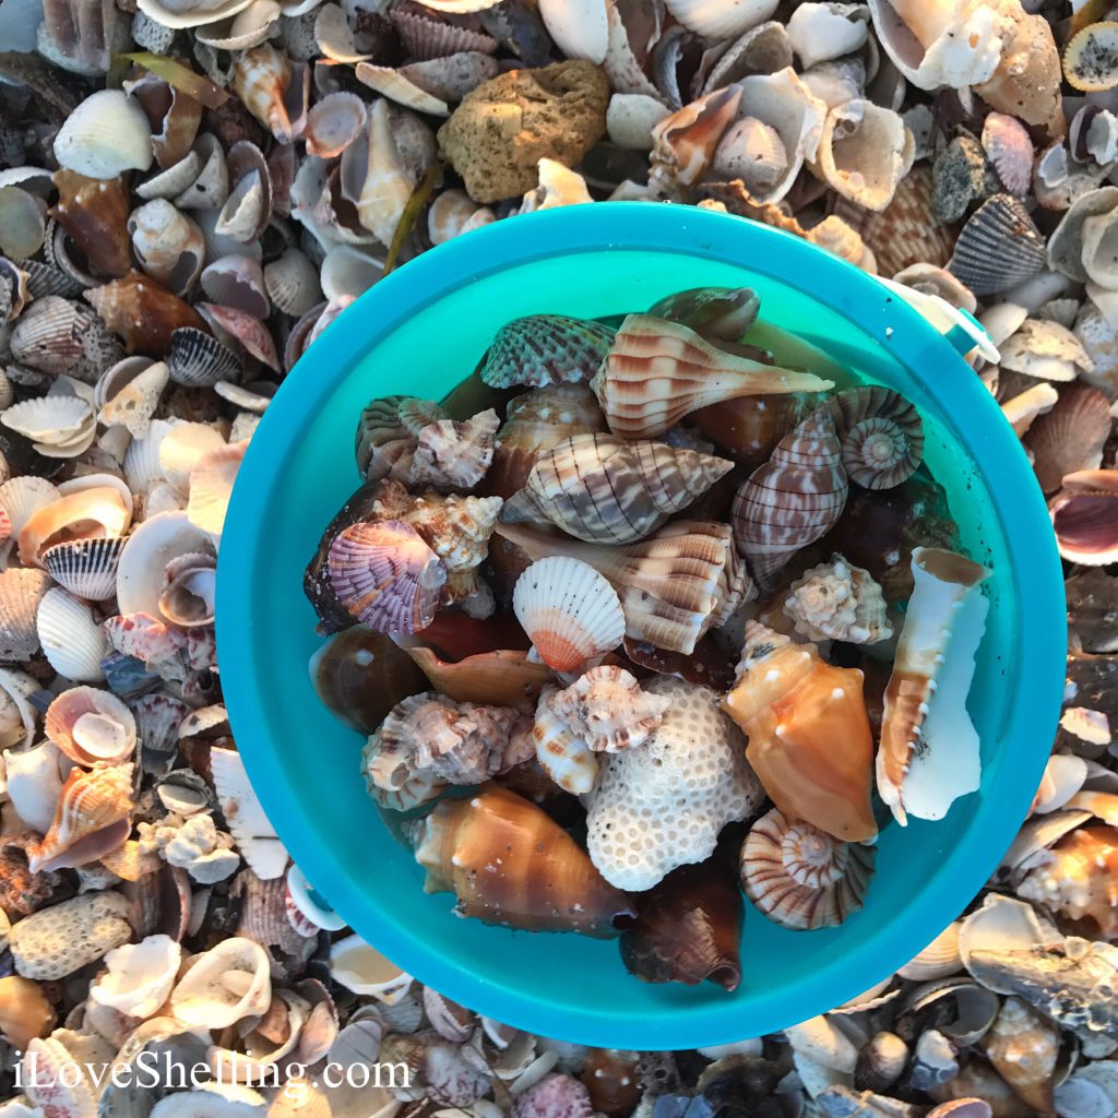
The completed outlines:
{"type": "Polygon", "coordinates": [[[1044,238],[1021,200],[994,195],[963,227],[947,267],[976,295],[993,295],[1030,280],[1044,263],[1044,238]]]}

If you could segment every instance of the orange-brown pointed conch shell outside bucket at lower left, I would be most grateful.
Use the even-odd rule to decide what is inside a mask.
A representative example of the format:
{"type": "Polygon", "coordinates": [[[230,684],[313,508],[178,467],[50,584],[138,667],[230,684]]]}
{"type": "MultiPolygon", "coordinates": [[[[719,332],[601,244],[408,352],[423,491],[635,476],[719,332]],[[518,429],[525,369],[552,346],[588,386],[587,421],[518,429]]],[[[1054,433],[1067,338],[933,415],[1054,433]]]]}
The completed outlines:
{"type": "Polygon", "coordinates": [[[85,773],[75,768],[63,785],[50,830],[28,859],[32,873],[92,862],[122,845],[132,830],[132,766],[85,773]]]}

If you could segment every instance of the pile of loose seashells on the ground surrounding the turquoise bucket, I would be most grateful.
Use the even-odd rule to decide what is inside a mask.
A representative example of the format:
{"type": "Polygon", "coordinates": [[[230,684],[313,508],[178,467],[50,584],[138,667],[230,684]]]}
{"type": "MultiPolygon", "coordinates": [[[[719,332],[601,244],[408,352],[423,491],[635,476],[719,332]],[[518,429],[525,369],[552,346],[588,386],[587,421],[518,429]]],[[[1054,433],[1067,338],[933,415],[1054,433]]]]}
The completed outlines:
{"type": "MultiPolygon", "coordinates": [[[[2,1118],[1112,1114],[1114,9],[0,0],[2,1118]],[[730,1051],[588,1051],[399,975],[267,837],[214,663],[240,444],[306,347],[432,245],[610,197],[766,221],[977,313],[1002,351],[977,373],[1069,565],[1064,717],[988,890],[880,989],[730,1051]],[[207,975],[221,980],[201,993],[207,975]],[[17,1087],[32,1062],[130,1067],[148,1050],[231,1065],[238,1086],[17,1087]],[[416,1086],[310,1086],[323,1053],[367,1068],[378,1052],[416,1086]],[[295,1060],[305,1080],[260,1086],[256,1069],[295,1060]]],[[[851,486],[850,574],[833,574],[855,600],[855,567],[890,600],[911,593],[873,568],[872,529],[902,512],[851,486]]],[[[444,567],[484,612],[468,559],[444,567]]],[[[812,624],[816,590],[797,597],[812,624]]],[[[345,648],[379,639],[324,653],[367,728],[389,711],[353,703],[345,648]]],[[[452,694],[465,652],[409,648],[395,671],[418,685],[389,693],[442,672],[452,694]]],[[[505,667],[539,679],[522,654],[505,667]]]]}

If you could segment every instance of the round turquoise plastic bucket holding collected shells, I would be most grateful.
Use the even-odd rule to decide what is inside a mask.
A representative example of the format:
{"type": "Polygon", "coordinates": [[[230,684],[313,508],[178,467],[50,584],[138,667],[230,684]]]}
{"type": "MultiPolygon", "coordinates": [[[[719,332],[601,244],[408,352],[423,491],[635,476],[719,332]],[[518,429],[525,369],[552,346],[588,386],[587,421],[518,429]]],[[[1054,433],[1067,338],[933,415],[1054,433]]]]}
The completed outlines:
{"type": "Polygon", "coordinates": [[[237,743],[314,887],[419,980],[511,1025],[582,1043],[685,1049],[779,1030],[884,978],[954,919],[1013,839],[1040,781],[1064,679],[1063,581],[1044,501],[1010,426],[953,347],[871,276],[814,246],[690,207],[597,202],[500,221],[389,275],[288,376],[237,480],[218,565],[218,648],[237,743]],[[353,430],[375,396],[438,399],[495,330],[532,312],[644,310],[707,284],[755,287],[762,318],[925,416],[926,455],[969,552],[993,567],[969,705],[983,783],[939,823],[890,826],[863,911],[794,932],[746,904],[735,994],[646,985],[616,942],[452,915],[385,828],[358,776],[362,738],[319,702],[321,641],[303,568],[356,489],[353,430]]]}

